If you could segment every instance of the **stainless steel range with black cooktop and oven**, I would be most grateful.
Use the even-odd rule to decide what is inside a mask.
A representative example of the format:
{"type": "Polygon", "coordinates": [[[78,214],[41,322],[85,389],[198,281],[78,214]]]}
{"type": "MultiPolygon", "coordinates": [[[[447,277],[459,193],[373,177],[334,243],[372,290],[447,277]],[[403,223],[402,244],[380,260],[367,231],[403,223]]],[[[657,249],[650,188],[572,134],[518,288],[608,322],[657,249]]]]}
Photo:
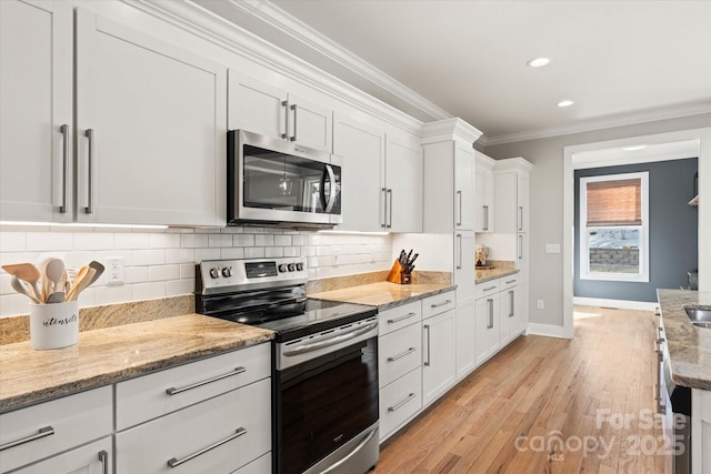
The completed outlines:
{"type": "Polygon", "coordinates": [[[379,456],[378,310],[307,297],[303,259],[203,261],[197,312],[276,332],[273,464],[364,473],[379,456]]]}

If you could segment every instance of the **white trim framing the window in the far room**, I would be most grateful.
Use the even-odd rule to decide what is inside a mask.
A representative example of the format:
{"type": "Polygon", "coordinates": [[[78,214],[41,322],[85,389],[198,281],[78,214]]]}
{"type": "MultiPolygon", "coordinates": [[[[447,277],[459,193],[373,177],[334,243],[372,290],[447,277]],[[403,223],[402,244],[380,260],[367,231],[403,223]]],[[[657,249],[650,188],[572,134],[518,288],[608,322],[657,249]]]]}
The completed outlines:
{"type": "MultiPolygon", "coordinates": [[[[580,245],[580,280],[618,281],[649,283],[649,171],[637,173],[601,174],[595,177],[580,178],[580,220],[579,220],[579,245],[580,245]],[[618,181],[640,179],[641,180],[641,208],[642,225],[640,225],[640,272],[639,273],[591,273],[590,272],[590,250],[588,248],[588,183],[600,181],[618,181]]],[[[593,225],[597,226],[597,225],[593,225]]],[[[630,225],[619,225],[629,228],[630,225]]],[[[613,225],[611,226],[613,228],[613,225]]]]}

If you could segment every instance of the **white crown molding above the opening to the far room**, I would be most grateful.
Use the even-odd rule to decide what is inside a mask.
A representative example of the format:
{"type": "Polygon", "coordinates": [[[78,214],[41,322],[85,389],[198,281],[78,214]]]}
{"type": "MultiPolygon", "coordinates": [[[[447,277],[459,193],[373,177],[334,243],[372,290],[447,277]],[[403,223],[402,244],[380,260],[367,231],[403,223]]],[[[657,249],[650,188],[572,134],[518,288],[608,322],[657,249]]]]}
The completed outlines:
{"type": "Polygon", "coordinates": [[[499,137],[482,137],[480,139],[480,143],[483,147],[494,147],[504,143],[547,139],[551,137],[569,135],[572,133],[591,132],[594,130],[634,125],[638,123],[655,122],[659,120],[679,119],[681,117],[699,115],[702,113],[711,113],[711,100],[670,105],[664,108],[648,109],[635,113],[627,113],[614,117],[591,119],[581,121],[580,123],[570,127],[559,127],[529,132],[510,133],[499,137]]]}

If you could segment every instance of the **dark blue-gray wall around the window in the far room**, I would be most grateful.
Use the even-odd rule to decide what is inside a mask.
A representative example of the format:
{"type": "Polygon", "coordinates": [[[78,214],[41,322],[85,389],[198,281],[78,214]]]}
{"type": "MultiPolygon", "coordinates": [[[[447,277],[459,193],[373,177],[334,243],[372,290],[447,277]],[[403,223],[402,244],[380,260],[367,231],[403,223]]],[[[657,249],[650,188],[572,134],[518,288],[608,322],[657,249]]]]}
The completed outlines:
{"type": "Polygon", "coordinates": [[[695,158],[654,163],[575,170],[575,281],[573,295],[629,301],[657,301],[658,288],[687,284],[687,271],[698,266],[699,208],[693,198],[695,158]],[[649,282],[580,280],[580,178],[649,172],[649,282]]]}

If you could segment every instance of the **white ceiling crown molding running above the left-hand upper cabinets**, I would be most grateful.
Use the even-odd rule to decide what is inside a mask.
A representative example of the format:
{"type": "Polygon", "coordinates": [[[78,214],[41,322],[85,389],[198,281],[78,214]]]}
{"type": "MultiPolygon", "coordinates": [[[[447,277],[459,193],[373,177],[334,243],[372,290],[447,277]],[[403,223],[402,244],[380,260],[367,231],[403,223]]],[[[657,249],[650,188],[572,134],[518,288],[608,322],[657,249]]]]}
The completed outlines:
{"type": "Polygon", "coordinates": [[[444,109],[430,102],[422,95],[407,88],[401,82],[385,74],[380,69],[363,61],[357,54],[353,54],[337,42],[321,34],[298,18],[289,14],[276,4],[266,0],[228,0],[228,2],[237,10],[251,14],[276,28],[284,34],[288,34],[308,46],[318,53],[324,56],[331,61],[337,62],[341,67],[350,70],[367,79],[379,88],[405,101],[413,108],[432,117],[433,120],[450,119],[451,113],[444,109]]]}

